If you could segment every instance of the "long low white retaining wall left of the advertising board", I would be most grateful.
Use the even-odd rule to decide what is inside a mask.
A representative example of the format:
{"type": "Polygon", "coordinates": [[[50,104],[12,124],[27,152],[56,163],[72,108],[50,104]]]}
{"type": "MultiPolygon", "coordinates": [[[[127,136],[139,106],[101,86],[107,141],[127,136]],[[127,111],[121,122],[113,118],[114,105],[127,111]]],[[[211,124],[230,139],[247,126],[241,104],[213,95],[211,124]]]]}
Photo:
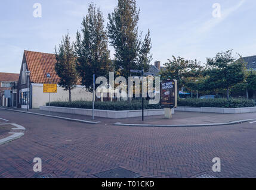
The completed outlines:
{"type": "MultiPolygon", "coordinates": [[[[49,106],[40,106],[41,110],[48,111],[49,106]]],[[[92,109],[79,109],[70,107],[50,107],[51,112],[60,113],[70,113],[78,115],[92,116],[92,109]]],[[[164,109],[147,109],[144,110],[144,116],[153,115],[164,115],[164,109]]],[[[172,114],[174,114],[174,109],[172,109],[172,114]]],[[[142,116],[141,110],[124,110],[124,111],[113,111],[113,110],[94,110],[94,116],[100,118],[111,118],[111,119],[121,119],[121,118],[135,118],[142,116]]]]}

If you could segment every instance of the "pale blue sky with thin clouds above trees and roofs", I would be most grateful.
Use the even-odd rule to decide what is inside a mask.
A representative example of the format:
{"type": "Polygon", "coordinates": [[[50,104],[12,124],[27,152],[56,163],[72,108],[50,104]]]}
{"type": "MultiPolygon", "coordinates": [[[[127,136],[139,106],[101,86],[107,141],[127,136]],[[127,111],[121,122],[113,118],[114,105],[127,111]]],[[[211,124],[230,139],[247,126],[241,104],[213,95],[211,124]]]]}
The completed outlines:
{"type": "MultiPolygon", "coordinates": [[[[24,50],[54,53],[67,31],[75,40],[90,2],[101,8],[106,26],[118,0],[1,0],[0,72],[19,73],[24,50]],[[33,14],[38,3],[42,17],[33,14]]],[[[137,0],[137,7],[139,31],[150,30],[152,64],[164,66],[172,55],[205,63],[229,49],[256,55],[255,0],[137,0]]]]}

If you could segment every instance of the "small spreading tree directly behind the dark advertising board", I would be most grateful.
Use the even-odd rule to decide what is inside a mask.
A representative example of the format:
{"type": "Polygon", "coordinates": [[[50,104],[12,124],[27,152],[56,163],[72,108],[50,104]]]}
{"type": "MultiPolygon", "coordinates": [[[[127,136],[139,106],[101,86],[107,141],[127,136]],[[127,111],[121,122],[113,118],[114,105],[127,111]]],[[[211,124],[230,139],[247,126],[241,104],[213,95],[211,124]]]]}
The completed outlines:
{"type": "Polygon", "coordinates": [[[168,59],[168,62],[164,65],[166,69],[161,71],[161,78],[164,80],[168,78],[177,80],[178,87],[182,87],[191,81],[196,81],[195,78],[199,77],[203,68],[201,62],[187,60],[180,56],[178,58],[172,56],[172,60],[168,59]]]}

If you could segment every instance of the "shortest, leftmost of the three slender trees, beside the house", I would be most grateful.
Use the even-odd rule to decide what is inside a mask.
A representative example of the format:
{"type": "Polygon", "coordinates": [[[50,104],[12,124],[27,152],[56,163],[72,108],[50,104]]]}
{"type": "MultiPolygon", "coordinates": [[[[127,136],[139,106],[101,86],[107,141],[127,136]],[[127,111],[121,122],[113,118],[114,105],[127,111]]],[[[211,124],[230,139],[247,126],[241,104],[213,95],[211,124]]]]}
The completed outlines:
{"type": "Polygon", "coordinates": [[[57,48],[55,47],[55,72],[60,77],[59,85],[64,90],[69,90],[69,102],[71,102],[71,90],[78,83],[78,73],[76,71],[76,58],[73,51],[74,47],[70,43],[69,34],[62,38],[62,41],[57,48]]]}

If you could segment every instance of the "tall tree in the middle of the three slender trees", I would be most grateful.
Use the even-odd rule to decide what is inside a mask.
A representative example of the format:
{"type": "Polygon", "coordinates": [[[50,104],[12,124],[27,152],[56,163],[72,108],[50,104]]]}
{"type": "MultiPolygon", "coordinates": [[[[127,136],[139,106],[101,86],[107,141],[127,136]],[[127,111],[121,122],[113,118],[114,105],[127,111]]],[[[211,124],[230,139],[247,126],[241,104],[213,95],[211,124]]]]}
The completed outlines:
{"type": "Polygon", "coordinates": [[[110,51],[103,14],[96,5],[89,4],[88,14],[82,21],[82,34],[76,33],[76,68],[87,90],[92,90],[92,74],[107,77],[111,71],[110,51]]]}

